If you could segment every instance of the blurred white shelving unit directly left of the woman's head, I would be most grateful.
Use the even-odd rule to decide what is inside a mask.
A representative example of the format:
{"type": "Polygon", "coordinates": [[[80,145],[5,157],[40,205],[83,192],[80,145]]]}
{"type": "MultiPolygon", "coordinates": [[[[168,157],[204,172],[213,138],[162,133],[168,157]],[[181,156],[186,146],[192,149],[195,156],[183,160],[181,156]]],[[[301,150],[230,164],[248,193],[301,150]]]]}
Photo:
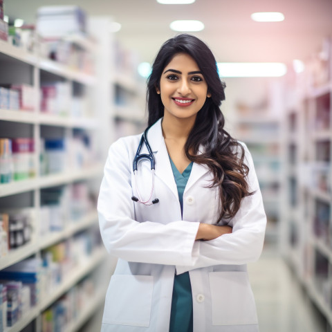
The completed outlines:
{"type": "MultiPolygon", "coordinates": [[[[90,17],[91,35],[98,41],[98,90],[95,105],[102,118],[101,145],[108,146],[120,136],[140,133],[146,127],[146,82],[138,77],[137,59],[108,33],[111,17],[90,17]],[[102,50],[102,51],[100,51],[102,50]],[[111,130],[110,130],[111,129],[111,130]]],[[[106,151],[107,152],[107,151],[106,151]]],[[[106,154],[104,155],[106,158],[106,154]]]]}

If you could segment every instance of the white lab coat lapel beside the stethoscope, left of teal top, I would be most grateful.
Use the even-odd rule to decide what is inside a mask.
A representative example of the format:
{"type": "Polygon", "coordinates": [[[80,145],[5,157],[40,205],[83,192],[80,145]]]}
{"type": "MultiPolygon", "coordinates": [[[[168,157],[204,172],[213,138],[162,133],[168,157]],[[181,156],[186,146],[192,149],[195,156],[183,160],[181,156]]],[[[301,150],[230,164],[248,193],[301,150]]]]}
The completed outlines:
{"type": "Polygon", "coordinates": [[[147,140],[151,145],[151,149],[154,152],[154,158],[156,159],[156,171],[155,174],[160,180],[169,187],[169,190],[178,199],[178,190],[174,180],[171,163],[169,162],[169,156],[165,140],[163,138],[163,131],[161,129],[161,120],[158,120],[147,133],[147,140]]]}

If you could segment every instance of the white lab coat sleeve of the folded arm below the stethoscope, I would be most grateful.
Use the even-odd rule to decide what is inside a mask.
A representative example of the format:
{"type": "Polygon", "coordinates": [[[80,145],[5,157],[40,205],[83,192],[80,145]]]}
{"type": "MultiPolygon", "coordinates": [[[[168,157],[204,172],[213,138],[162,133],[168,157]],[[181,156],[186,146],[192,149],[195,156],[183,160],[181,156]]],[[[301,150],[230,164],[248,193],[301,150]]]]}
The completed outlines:
{"type": "Polygon", "coordinates": [[[113,143],[104,167],[98,197],[102,240],[107,251],[126,261],[190,265],[199,223],[174,221],[167,225],[134,220],[129,148],[124,139],[113,143]]]}

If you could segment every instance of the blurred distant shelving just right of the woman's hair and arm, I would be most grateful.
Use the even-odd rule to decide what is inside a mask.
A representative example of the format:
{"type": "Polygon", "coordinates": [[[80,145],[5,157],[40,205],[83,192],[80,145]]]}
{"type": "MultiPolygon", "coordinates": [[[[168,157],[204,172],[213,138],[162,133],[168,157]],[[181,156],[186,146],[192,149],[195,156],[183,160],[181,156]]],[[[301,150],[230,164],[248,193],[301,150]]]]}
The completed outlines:
{"type": "Polygon", "coordinates": [[[275,246],[280,236],[282,192],[282,117],[277,103],[280,84],[270,81],[259,84],[270,85],[261,97],[263,106],[242,101],[240,107],[234,107],[232,136],[245,142],[252,154],[268,219],[265,244],[275,246]]]}

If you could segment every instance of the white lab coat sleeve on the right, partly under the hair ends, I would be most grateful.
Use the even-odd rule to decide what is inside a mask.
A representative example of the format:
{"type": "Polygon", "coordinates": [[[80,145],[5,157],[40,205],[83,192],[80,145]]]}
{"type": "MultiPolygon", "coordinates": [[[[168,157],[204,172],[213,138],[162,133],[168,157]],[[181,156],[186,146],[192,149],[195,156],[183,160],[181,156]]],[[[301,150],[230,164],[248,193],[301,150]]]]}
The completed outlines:
{"type": "MultiPolygon", "coordinates": [[[[243,143],[242,143],[243,144],[243,143]]],[[[246,145],[245,161],[250,171],[248,173],[249,190],[255,194],[246,196],[237,214],[232,218],[232,233],[210,241],[196,241],[194,251],[198,259],[190,266],[176,266],[176,273],[181,274],[195,268],[219,264],[247,264],[257,261],[263,248],[266,214],[252,157],[246,145]]]]}

